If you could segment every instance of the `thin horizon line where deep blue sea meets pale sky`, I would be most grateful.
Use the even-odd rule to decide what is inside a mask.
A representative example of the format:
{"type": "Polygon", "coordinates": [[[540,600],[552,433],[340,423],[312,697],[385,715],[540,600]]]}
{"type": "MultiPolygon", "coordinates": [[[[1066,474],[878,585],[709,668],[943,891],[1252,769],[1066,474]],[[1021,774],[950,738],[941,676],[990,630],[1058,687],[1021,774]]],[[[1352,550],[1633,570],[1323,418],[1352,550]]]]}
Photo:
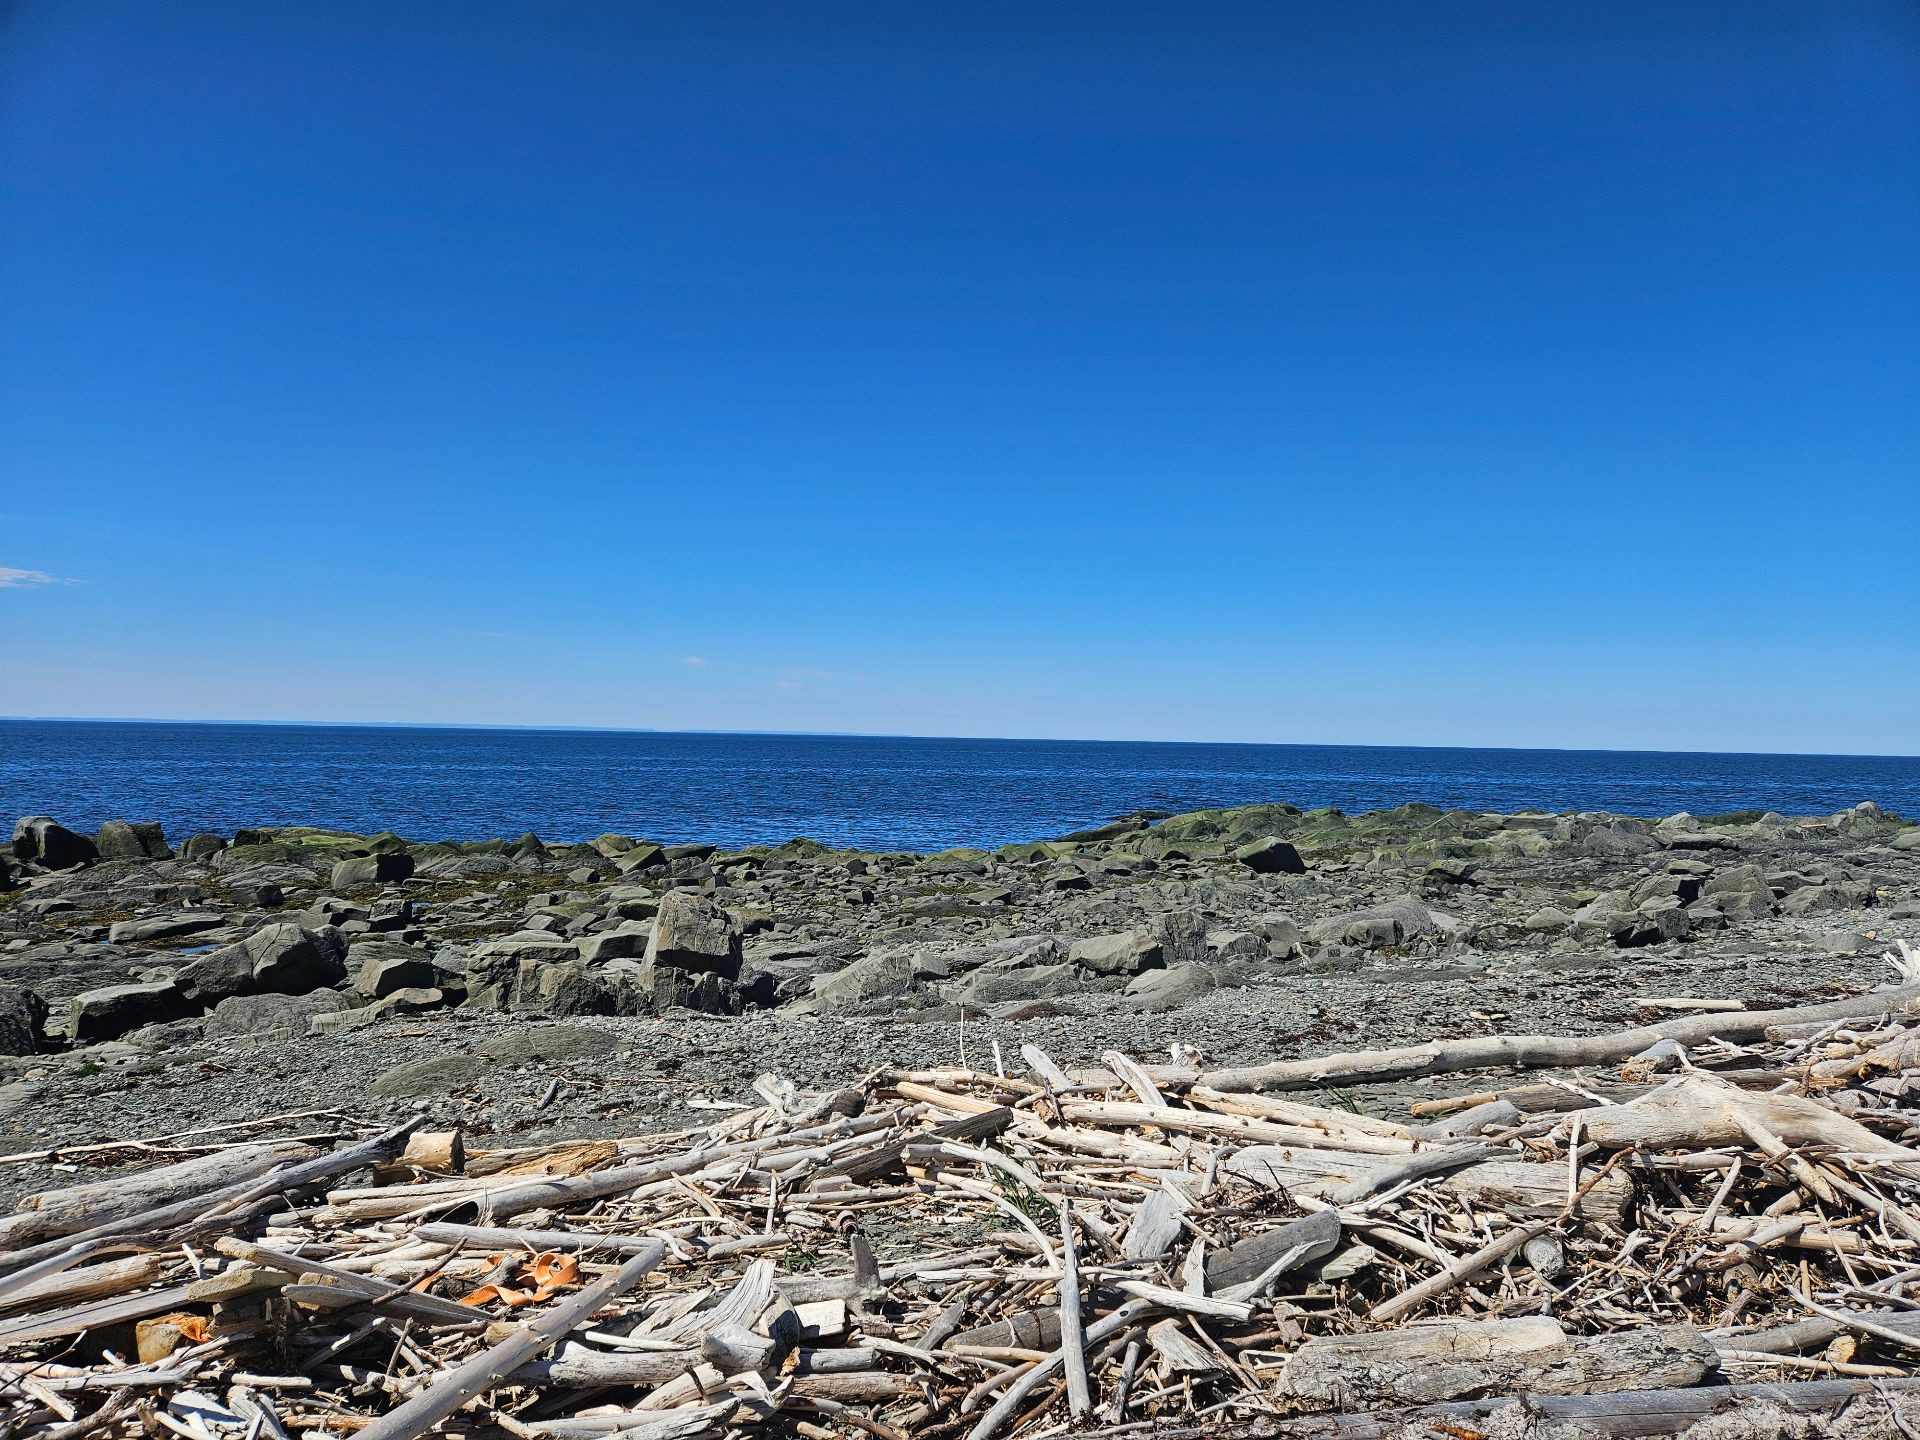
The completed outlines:
{"type": "Polygon", "coordinates": [[[1707,751],[1707,749],[1605,749],[1592,745],[1390,745],[1382,741],[1263,741],[1263,739],[1087,739],[1058,735],[912,735],[864,730],[662,730],[659,726],[564,726],[564,724],[488,724],[480,720],[179,720],[165,716],[106,714],[0,714],[0,724],[92,724],[92,726],[228,726],[259,730],[490,730],[518,733],[584,735],[753,735],[768,739],[902,739],[985,745],[1212,745],[1229,749],[1294,751],[1507,751],[1538,755],[1745,755],[1795,760],[1920,760],[1920,755],[1874,751],[1707,751]]]}

